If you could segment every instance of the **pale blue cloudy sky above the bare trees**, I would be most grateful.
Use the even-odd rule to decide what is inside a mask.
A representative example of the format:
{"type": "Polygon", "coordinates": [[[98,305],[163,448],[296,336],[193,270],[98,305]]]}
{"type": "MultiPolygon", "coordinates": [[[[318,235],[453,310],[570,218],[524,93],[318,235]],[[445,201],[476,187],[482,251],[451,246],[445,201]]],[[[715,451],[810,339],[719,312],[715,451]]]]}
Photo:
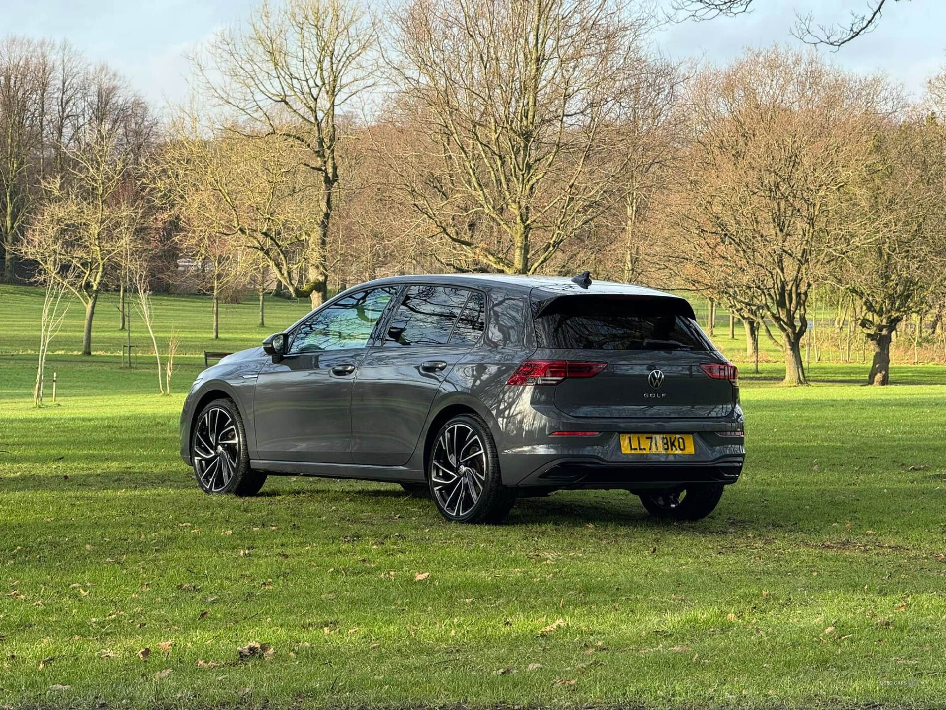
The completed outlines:
{"type": "MultiPolygon", "coordinates": [[[[669,2],[669,0],[657,0],[669,2]]],[[[108,62],[156,106],[184,98],[185,54],[244,17],[252,0],[0,0],[0,35],[67,39],[93,62],[108,62]]],[[[379,9],[386,5],[378,2],[379,9]]],[[[946,64],[946,2],[889,4],[876,30],[840,50],[820,51],[856,72],[884,72],[920,98],[925,81],[946,64]]],[[[756,0],[752,13],[660,30],[655,45],[670,58],[725,63],[749,46],[800,43],[796,12],[823,23],[843,21],[867,0],[756,0]]]]}

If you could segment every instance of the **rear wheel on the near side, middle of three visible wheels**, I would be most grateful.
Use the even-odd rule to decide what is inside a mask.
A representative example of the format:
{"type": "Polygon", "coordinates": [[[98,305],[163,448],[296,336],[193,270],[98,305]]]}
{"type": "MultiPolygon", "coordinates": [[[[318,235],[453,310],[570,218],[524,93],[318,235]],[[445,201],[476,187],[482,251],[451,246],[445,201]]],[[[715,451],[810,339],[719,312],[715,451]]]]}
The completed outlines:
{"type": "Polygon", "coordinates": [[[428,460],[429,495],[451,523],[499,523],[516,503],[502,485],[496,442],[482,417],[451,418],[437,432],[428,460]]]}

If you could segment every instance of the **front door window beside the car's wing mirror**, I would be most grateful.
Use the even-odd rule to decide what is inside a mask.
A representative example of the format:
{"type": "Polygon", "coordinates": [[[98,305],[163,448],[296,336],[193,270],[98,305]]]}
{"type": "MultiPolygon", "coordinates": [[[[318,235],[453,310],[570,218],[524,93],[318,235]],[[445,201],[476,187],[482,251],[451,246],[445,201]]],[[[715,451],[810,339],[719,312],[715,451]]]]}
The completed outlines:
{"type": "Polygon", "coordinates": [[[353,293],[319,311],[295,331],[289,352],[364,347],[377,319],[394,295],[393,288],[353,293]]]}

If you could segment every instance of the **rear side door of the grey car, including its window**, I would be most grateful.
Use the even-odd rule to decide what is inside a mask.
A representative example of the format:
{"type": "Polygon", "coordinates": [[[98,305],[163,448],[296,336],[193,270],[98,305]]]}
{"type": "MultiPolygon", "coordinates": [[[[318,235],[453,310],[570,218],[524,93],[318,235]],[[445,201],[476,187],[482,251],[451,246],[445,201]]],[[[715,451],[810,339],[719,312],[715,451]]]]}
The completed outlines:
{"type": "Polygon", "coordinates": [[[482,337],[485,306],[479,291],[433,285],[404,290],[383,338],[368,348],[355,378],[356,464],[407,463],[434,395],[482,337]]]}

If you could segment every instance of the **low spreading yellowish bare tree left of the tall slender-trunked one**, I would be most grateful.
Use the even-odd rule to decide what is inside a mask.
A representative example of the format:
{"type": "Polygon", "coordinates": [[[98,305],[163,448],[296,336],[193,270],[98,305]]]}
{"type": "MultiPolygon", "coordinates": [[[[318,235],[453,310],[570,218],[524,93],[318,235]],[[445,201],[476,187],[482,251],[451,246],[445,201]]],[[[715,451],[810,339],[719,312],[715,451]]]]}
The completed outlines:
{"type": "MultiPolygon", "coordinates": [[[[318,207],[299,153],[282,136],[215,131],[194,110],[173,122],[170,139],[149,164],[150,192],[176,215],[185,252],[195,268],[209,265],[218,289],[246,276],[236,266],[258,260],[289,293],[309,295],[308,228],[318,207]]],[[[332,263],[324,258],[326,269],[332,263]]]]}

